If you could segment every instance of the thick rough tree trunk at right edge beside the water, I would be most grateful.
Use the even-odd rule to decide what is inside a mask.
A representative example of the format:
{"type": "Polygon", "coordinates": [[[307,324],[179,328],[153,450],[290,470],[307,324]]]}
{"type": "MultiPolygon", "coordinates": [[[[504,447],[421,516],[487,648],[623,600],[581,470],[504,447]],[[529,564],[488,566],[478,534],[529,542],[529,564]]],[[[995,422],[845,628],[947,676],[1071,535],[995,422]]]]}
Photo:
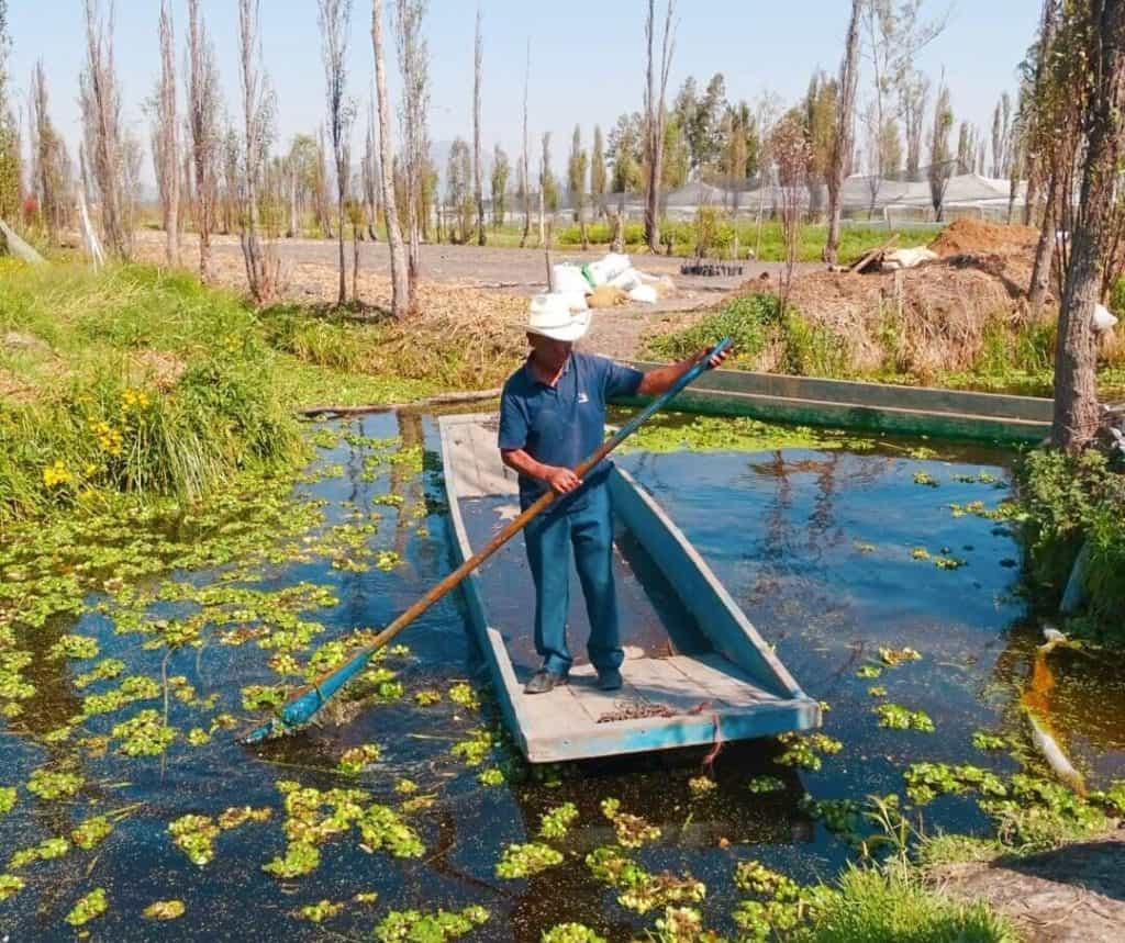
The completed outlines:
{"type": "Polygon", "coordinates": [[[1059,309],[1055,350],[1054,423],[1051,441],[1078,452],[1098,428],[1097,334],[1094,306],[1100,300],[1101,268],[1113,220],[1125,109],[1125,0],[1095,6],[1094,81],[1084,106],[1089,137],[1082,196],[1073,227],[1070,265],[1059,309]]]}

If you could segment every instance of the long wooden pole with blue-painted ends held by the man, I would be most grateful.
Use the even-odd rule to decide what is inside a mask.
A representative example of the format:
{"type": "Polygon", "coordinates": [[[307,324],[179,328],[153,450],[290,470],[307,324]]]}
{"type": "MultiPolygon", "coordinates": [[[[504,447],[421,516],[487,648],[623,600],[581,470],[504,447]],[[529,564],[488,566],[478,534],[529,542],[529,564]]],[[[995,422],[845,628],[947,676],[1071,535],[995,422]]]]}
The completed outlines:
{"type": "MultiPolygon", "coordinates": [[[[693,382],[704,370],[706,370],[713,356],[721,354],[729,346],[729,337],[719,342],[719,344],[708,352],[705,356],[700,359],[700,361],[695,363],[686,373],[684,373],[683,377],[673,383],[668,390],[654,399],[640,412],[618,429],[613,436],[597,446],[597,448],[594,450],[594,454],[574,470],[575,474],[578,475],[578,478],[585,477],[586,473],[604,460],[606,455],[609,455],[622,442],[637,432],[637,429],[639,429],[641,425],[646,423],[655,412],[660,410],[673,397],[683,391],[688,383],[693,382]]],[[[530,520],[538,517],[548,507],[550,507],[557,497],[558,496],[555,491],[546,491],[538,500],[529,505],[526,510],[524,510],[503,531],[493,536],[480,550],[472,554],[472,556],[453,570],[453,572],[446,577],[441,582],[433,586],[421,599],[399,615],[398,618],[390,623],[390,625],[382,629],[382,632],[376,635],[369,644],[360,649],[354,655],[340,665],[340,668],[330,671],[327,674],[321,675],[321,678],[314,681],[304,693],[285,705],[276,718],[270,720],[268,724],[263,724],[251,731],[250,734],[243,737],[242,742],[256,743],[269,736],[289,733],[294,727],[307,724],[312,719],[313,715],[316,714],[316,711],[320,710],[336,691],[339,691],[367,667],[371,656],[379,651],[379,649],[390,642],[390,640],[398,635],[399,632],[406,628],[406,626],[414,622],[414,619],[421,616],[426,609],[433,606],[433,604],[441,599],[447,592],[459,586],[460,582],[469,575],[469,573],[480,566],[486,560],[488,560],[489,556],[496,553],[496,551],[504,546],[504,544],[512,539],[512,537],[519,534],[530,520]]]]}

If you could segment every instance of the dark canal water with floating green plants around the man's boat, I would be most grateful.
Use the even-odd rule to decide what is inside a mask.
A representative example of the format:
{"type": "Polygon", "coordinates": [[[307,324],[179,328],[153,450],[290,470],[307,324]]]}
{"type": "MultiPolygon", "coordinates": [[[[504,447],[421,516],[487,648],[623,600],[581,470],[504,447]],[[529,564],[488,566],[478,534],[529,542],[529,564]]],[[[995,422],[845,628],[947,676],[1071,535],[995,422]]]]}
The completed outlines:
{"type": "MultiPolygon", "coordinates": [[[[19,629],[33,656],[24,675],[35,693],[18,717],[0,720],[0,786],[17,787],[14,808],[0,816],[0,871],[25,881],[0,903],[0,931],[11,940],[73,939],[64,917],[97,888],[108,907],[83,927],[96,940],[371,939],[392,912],[468,905],[488,912],[470,939],[538,941],[555,924],[577,921],[629,940],[652,928],[658,914],[621,906],[585,864],[588,852],[613,842],[600,810],[609,798],[660,829],[637,860],[650,872],[703,881],[704,924],[730,933],[742,897],[732,881],[736,862],[757,859],[810,882],[831,880],[854,854],[809,814],[807,796],[863,801],[901,794],[903,770],[919,761],[1017,770],[1012,751],[986,754],[972,736],[1007,736],[1017,756],[1034,762],[1024,704],[1034,701],[1050,718],[1091,783],[1125,768],[1120,672],[1080,652],[1055,652],[1048,664],[1037,655],[1042,624],[1019,591],[1020,548],[1009,525],[990,514],[1009,493],[1012,456],[934,443],[919,451],[902,442],[858,451],[633,452],[618,460],[694,543],[804,690],[825,702],[824,731],[842,749],[824,755],[819,770],[778,764],[782,747],[773,742],[724,744],[717,756],[699,751],[528,770],[498,733],[456,592],[400,636],[408,651],[379,663],[368,696],[342,699],[297,736],[244,747],[236,735],[268,716],[248,709],[260,695],[252,686],[278,684],[286,668],[279,655],[289,652],[303,665],[317,645],[385,625],[450,570],[433,417],[328,424],[317,441],[317,461],[295,492],[298,502],[321,505],[323,519],[307,539],[278,544],[263,533],[260,554],[138,586],[159,596],[140,616],[142,628],[158,626],[156,636],[190,624],[202,604],[218,607],[208,611],[222,611],[222,625],[192,626],[198,644],[148,644],[156,636],[132,631],[136,618],[126,619],[105,593],[83,599],[76,617],[19,629]],[[359,529],[372,515],[377,527],[359,529]],[[318,555],[317,533],[349,527],[358,534],[353,557],[339,550],[318,555]],[[210,588],[217,596],[208,596],[210,588]],[[286,649],[279,642],[291,637],[286,632],[307,632],[308,646],[286,649]],[[122,673],[81,678],[93,660],[52,655],[68,634],[97,640],[98,659],[120,660],[122,673]],[[906,647],[920,659],[889,667],[880,653],[906,647]],[[116,710],[86,710],[86,698],[118,690],[128,675],[146,675],[160,692],[143,691],[147,697],[116,710]],[[873,713],[881,701],[925,711],[934,732],[881,727],[873,713]],[[155,711],[174,738],[163,752],[124,755],[118,725],[143,709],[155,711]],[[68,726],[69,736],[57,734],[68,726]],[[482,732],[492,733],[490,747],[479,746],[482,732]],[[377,758],[371,750],[353,771],[341,771],[346,751],[375,745],[377,758]],[[73,795],[34,794],[26,785],[37,770],[75,774],[80,785],[73,795]],[[486,771],[494,772],[483,782],[486,771]],[[693,788],[704,774],[714,787],[693,788]],[[776,788],[753,791],[763,777],[776,788]],[[396,856],[390,844],[375,846],[378,834],[344,820],[323,829],[320,861],[308,873],[267,872],[263,865],[284,859],[295,834],[286,783],[322,790],[322,798],[328,790],[362,792],[351,801],[386,806],[421,842],[421,853],[396,856]],[[562,863],[530,879],[497,877],[505,847],[536,841],[540,817],[564,803],[578,817],[554,842],[562,863]],[[269,809],[270,817],[213,825],[204,864],[192,863],[169,832],[183,816],[217,823],[245,806],[269,809]],[[112,831],[92,849],[70,838],[60,856],[11,867],[18,850],[71,836],[99,815],[112,831]],[[374,901],[356,900],[372,891],[374,901]],[[182,917],[142,916],[169,900],[182,903],[182,917]],[[320,901],[344,906],[322,923],[303,918],[302,908],[320,901]]],[[[186,528],[173,538],[215,535],[186,528]]],[[[530,634],[530,613],[528,623],[530,634]]],[[[651,640],[639,641],[651,647],[651,640]]],[[[582,640],[574,642],[580,650],[582,640]]],[[[927,806],[925,823],[930,833],[987,828],[973,800],[956,796],[927,806]]]]}

